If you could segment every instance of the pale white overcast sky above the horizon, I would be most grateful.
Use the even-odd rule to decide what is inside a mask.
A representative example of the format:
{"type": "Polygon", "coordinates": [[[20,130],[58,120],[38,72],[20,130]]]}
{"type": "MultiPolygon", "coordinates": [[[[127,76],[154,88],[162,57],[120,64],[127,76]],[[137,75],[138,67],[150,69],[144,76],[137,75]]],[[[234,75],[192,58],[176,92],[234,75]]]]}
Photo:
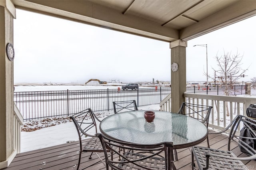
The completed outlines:
{"type": "MultiPolygon", "coordinates": [[[[248,68],[240,81],[256,77],[256,16],[188,41],[187,81],[206,81],[216,68],[214,56],[243,55],[248,68]]],[[[170,81],[169,43],[16,10],[14,83],[170,81]]],[[[211,81],[209,79],[209,81],[211,81]]]]}

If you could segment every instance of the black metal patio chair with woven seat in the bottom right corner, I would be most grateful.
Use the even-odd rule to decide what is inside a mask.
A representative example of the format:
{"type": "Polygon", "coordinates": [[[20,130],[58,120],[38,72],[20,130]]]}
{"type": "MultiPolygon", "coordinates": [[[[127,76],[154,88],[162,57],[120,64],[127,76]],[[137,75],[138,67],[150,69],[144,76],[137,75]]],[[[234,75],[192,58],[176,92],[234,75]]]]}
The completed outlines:
{"type": "MultiPolygon", "coordinates": [[[[192,163],[194,164],[194,157],[196,158],[196,162],[198,168],[200,170],[215,170],[215,169],[246,169],[241,160],[255,160],[256,159],[256,132],[252,129],[252,127],[256,126],[256,120],[251,119],[242,115],[237,115],[235,119],[226,127],[224,130],[220,132],[210,132],[212,134],[226,132],[230,129],[230,134],[228,137],[228,151],[225,150],[217,150],[206,148],[202,146],[193,146],[192,147],[192,163]],[[237,130],[239,125],[242,125],[243,129],[246,130],[247,134],[250,134],[250,137],[245,137],[240,132],[237,135],[237,130]],[[246,140],[249,140],[246,142],[246,140]],[[240,150],[246,150],[248,153],[247,157],[236,157],[236,155],[230,151],[230,142],[238,144],[240,150]]],[[[197,169],[192,166],[192,169],[197,169]]]]}

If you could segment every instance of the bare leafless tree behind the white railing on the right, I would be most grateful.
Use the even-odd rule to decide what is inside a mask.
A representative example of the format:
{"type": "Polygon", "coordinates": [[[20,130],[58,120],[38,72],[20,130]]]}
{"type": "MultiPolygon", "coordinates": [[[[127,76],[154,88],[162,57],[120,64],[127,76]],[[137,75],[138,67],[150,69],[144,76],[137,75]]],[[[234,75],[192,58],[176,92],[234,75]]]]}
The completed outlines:
{"type": "MultiPolygon", "coordinates": [[[[224,85],[225,90],[224,94],[229,96],[231,91],[233,91],[233,85],[237,83],[238,79],[244,77],[244,73],[247,69],[241,68],[241,61],[243,55],[240,55],[238,52],[236,54],[225,53],[218,57],[216,55],[215,59],[217,61],[217,68],[212,68],[215,73],[215,77],[210,77],[218,82],[221,82],[224,85]],[[215,79],[216,78],[216,79],[215,79]]],[[[226,115],[229,116],[228,105],[226,105],[226,115]]]]}

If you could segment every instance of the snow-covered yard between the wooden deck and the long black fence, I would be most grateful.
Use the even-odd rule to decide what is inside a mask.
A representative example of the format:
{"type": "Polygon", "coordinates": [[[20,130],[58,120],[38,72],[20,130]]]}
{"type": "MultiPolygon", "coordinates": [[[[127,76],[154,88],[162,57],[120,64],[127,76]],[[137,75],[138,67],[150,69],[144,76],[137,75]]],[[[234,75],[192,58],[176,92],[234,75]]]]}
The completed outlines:
{"type": "MultiPolygon", "coordinates": [[[[139,107],[138,109],[159,110],[160,107],[159,105],[149,105],[139,107]]],[[[105,117],[114,114],[114,111],[94,113],[100,120],[102,120],[105,117]]],[[[78,140],[78,134],[74,123],[69,118],[28,121],[22,126],[21,152],[46,148],[76,140],[78,140]]]]}

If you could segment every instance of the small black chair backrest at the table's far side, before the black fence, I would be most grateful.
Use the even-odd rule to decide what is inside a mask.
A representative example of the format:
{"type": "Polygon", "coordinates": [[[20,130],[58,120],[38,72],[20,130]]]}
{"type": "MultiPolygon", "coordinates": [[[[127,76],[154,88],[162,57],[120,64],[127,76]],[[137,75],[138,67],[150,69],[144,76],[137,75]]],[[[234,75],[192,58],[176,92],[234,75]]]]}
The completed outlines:
{"type": "Polygon", "coordinates": [[[131,101],[113,101],[114,113],[121,113],[125,111],[138,111],[135,100],[131,101]]]}

